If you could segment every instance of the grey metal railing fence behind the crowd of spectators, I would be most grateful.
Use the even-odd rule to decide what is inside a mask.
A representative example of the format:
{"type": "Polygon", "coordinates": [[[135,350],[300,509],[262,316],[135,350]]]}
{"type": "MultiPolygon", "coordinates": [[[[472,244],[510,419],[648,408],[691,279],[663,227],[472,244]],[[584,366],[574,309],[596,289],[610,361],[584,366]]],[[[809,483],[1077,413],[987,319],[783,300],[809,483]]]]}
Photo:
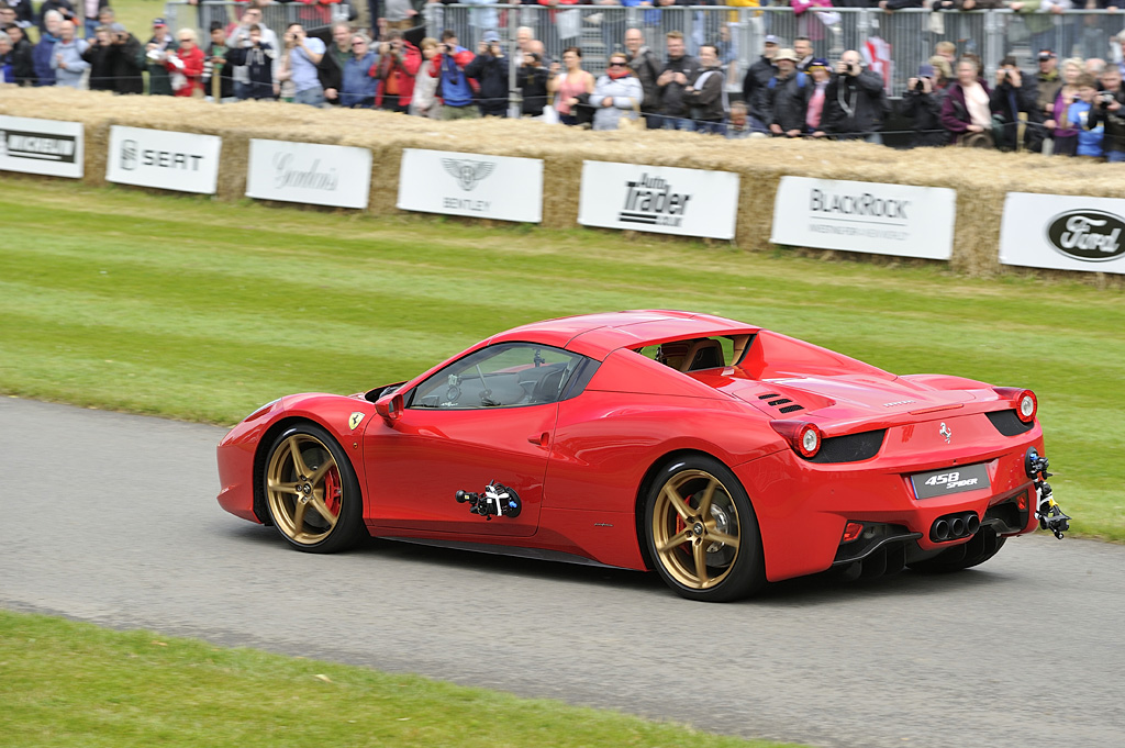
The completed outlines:
{"type": "MultiPolygon", "coordinates": [[[[360,0],[362,1],[362,0],[360,0]]],[[[206,0],[199,6],[169,2],[165,16],[174,26],[197,26],[206,34],[214,20],[236,21],[244,2],[206,0]]],[[[346,19],[345,3],[270,3],[263,8],[263,21],[273,30],[300,21],[315,29],[334,20],[346,19]]],[[[1119,61],[1116,35],[1125,28],[1125,13],[1105,10],[1063,13],[1019,13],[1010,10],[938,12],[908,9],[886,12],[867,8],[813,9],[796,15],[791,8],[732,8],[723,6],[623,8],[613,6],[485,4],[462,6],[428,3],[416,35],[440,37],[444,29],[457,33],[460,43],[475,49],[486,31],[495,31],[506,49],[513,49],[521,26],[532,29],[543,43],[546,54],[561,60],[569,46],[583,51],[583,66],[595,75],[605,70],[608,56],[623,49],[624,33],[639,28],[646,44],[662,58],[665,34],[683,31],[688,54],[700,45],[716,44],[727,66],[727,85],[740,90],[742,76],[760,55],[765,36],[773,34],[785,45],[807,36],[816,56],[830,61],[845,49],[885,54],[891,61],[884,76],[888,91],[898,96],[907,81],[918,74],[919,65],[934,54],[938,42],[953,42],[958,53],[972,52],[984,62],[991,78],[1006,55],[1015,55],[1025,67],[1034,67],[1035,53],[1053,49],[1058,56],[1102,57],[1119,61]]],[[[515,71],[511,72],[515,91],[515,71]]]]}

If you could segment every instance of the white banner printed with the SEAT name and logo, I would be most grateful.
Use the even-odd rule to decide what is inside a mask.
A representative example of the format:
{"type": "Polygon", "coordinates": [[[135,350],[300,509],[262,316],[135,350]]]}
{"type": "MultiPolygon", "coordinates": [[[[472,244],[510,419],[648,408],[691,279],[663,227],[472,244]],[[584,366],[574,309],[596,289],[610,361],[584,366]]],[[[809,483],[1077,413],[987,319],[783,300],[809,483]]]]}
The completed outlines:
{"type": "Polygon", "coordinates": [[[114,125],[106,180],[180,192],[214,195],[223,138],[114,125]]]}

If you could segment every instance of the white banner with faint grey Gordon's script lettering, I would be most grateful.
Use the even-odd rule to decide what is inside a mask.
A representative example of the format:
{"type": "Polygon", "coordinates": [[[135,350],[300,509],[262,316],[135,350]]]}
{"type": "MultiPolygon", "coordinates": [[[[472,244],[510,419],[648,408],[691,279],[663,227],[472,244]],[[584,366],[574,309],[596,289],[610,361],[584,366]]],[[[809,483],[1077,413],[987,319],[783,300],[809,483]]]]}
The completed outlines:
{"type": "Polygon", "coordinates": [[[371,152],[367,148],[250,141],[248,197],[366,208],[370,191],[371,152]]]}

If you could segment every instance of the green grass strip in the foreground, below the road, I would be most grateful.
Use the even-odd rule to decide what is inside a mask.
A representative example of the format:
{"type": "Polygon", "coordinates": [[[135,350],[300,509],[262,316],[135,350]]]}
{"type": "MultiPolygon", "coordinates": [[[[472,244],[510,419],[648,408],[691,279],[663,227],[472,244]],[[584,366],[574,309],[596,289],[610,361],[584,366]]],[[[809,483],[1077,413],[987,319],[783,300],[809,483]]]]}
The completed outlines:
{"type": "Polygon", "coordinates": [[[0,611],[0,745],[767,748],[412,675],[0,611]]]}

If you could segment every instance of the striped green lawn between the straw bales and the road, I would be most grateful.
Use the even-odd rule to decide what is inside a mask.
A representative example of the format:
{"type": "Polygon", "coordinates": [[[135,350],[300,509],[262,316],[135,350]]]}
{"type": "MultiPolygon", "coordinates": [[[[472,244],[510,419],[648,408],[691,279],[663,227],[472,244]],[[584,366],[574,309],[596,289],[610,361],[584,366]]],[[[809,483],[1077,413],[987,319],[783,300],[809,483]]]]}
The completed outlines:
{"type": "Polygon", "coordinates": [[[1035,389],[1059,501],[1081,532],[1125,540],[1117,290],[7,175],[0,215],[0,391],[230,424],[526,322],[692,309],[898,373],[1035,389]]]}

